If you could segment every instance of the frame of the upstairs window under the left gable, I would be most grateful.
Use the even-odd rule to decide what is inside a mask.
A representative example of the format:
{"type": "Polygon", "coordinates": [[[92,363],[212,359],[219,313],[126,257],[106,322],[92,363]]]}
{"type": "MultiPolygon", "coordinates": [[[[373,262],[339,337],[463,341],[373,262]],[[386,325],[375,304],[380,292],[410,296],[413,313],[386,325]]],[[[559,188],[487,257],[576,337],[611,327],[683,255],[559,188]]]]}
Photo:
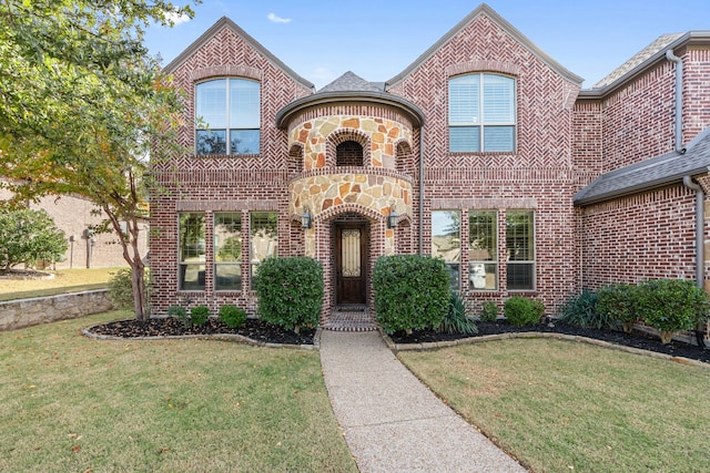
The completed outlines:
{"type": "MultiPolygon", "coordinates": [[[[239,107],[239,104],[236,105],[239,107]]],[[[210,78],[204,81],[196,82],[194,85],[194,144],[195,144],[195,156],[253,156],[258,155],[261,153],[261,82],[247,79],[247,78],[239,78],[239,76],[225,76],[225,78],[210,78]],[[200,86],[210,84],[212,82],[224,81],[224,126],[212,126],[210,123],[203,122],[200,113],[200,86]],[[233,82],[243,82],[245,84],[253,84],[256,89],[256,110],[251,111],[255,112],[256,123],[253,123],[254,126],[236,126],[237,117],[232,117],[232,111],[234,104],[232,104],[232,83],[233,82]],[[233,123],[234,122],[234,123],[233,123]],[[201,153],[200,147],[200,136],[201,133],[204,133],[204,136],[216,136],[217,134],[222,135],[221,144],[224,145],[224,153],[201,153]],[[233,148],[233,142],[235,140],[235,135],[240,133],[256,133],[256,140],[252,140],[252,143],[256,144],[255,152],[240,153],[235,152],[233,148]]],[[[247,150],[248,151],[248,150],[247,150]]]]}

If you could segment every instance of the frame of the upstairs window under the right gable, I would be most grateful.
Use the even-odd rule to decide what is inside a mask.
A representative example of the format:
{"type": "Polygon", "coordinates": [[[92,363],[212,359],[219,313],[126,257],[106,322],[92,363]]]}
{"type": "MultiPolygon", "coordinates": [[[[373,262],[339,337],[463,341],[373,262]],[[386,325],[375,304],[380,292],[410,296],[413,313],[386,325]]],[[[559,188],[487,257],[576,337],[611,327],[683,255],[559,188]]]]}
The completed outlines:
{"type": "MultiPolygon", "coordinates": [[[[517,96],[518,96],[518,81],[517,78],[506,74],[493,73],[493,72],[471,72],[466,74],[460,74],[456,76],[452,76],[448,79],[448,152],[449,153],[516,153],[517,152],[517,132],[518,132],[518,113],[517,113],[517,96]],[[506,104],[509,107],[508,113],[510,114],[511,121],[509,122],[488,122],[486,120],[486,103],[491,99],[486,100],[486,76],[489,78],[505,78],[510,80],[510,101],[506,104]],[[456,115],[452,112],[452,107],[455,105],[452,85],[455,84],[456,81],[462,81],[464,78],[478,78],[478,93],[476,97],[476,109],[477,112],[475,114],[471,113],[471,120],[469,122],[459,122],[453,121],[453,115],[456,115]],[[474,116],[476,115],[476,116],[474,116]],[[477,135],[477,146],[466,147],[466,148],[456,148],[453,150],[452,146],[454,141],[452,140],[452,135],[454,135],[455,131],[460,132],[466,128],[475,128],[477,135]],[[505,150],[498,148],[489,148],[486,143],[486,130],[494,128],[510,128],[511,137],[510,137],[510,147],[505,150]]],[[[473,106],[473,105],[471,105],[473,106]]],[[[475,135],[471,135],[475,137],[475,135]]],[[[495,141],[495,143],[498,143],[495,141]]]]}

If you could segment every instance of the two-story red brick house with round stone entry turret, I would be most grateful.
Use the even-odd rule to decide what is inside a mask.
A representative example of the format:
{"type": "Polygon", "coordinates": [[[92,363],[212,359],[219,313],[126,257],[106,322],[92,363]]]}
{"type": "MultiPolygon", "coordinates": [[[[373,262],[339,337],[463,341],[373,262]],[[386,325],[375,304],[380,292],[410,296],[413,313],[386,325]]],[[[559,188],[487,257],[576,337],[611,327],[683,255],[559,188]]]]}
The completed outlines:
{"type": "Polygon", "coordinates": [[[325,326],[372,308],[382,255],[444,258],[474,308],[525,295],[555,313],[611,281],[704,281],[709,45],[661,37],[582,90],[481,4],[389,81],[346,72],[316,92],[223,18],[165,68],[194,152],[154,169],[155,311],[253,313],[271,255],[323,264],[325,326]]]}

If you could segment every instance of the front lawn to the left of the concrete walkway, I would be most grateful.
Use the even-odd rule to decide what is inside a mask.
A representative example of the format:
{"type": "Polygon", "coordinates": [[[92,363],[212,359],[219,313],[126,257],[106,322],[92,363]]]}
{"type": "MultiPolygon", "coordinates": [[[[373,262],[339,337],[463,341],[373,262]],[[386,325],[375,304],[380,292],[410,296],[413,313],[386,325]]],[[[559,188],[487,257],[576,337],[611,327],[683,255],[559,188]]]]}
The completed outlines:
{"type": "Polygon", "coordinates": [[[317,351],[0,333],[0,471],[356,471],[317,351]]]}

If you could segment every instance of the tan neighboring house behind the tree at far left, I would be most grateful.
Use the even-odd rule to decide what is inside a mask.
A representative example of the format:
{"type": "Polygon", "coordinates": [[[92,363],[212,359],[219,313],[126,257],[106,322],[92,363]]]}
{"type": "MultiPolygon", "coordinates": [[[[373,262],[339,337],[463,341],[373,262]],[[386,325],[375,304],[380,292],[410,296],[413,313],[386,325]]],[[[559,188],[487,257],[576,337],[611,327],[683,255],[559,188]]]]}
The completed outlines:
{"type": "MultiPolygon", "coordinates": [[[[8,200],[12,193],[0,188],[0,200],[8,200]]],[[[90,200],[73,195],[47,196],[37,203],[30,203],[32,209],[43,209],[54,220],[54,225],[67,236],[67,253],[61,261],[44,264],[39,269],[69,268],[114,268],[128,266],[123,250],[113,233],[95,234],[103,220],[103,214],[90,200]]],[[[148,223],[142,224],[144,237],[140,241],[141,254],[148,253],[148,223]]]]}

